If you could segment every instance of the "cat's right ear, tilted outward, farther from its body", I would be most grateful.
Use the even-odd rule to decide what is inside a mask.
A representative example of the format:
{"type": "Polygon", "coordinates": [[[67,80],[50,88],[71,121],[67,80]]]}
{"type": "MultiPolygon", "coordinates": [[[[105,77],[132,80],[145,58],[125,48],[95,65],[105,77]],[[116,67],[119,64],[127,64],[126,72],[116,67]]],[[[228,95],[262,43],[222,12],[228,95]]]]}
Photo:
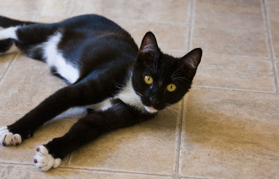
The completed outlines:
{"type": "Polygon", "coordinates": [[[191,77],[195,76],[197,66],[202,59],[202,49],[193,49],[191,52],[179,59],[179,67],[187,69],[191,77]]]}

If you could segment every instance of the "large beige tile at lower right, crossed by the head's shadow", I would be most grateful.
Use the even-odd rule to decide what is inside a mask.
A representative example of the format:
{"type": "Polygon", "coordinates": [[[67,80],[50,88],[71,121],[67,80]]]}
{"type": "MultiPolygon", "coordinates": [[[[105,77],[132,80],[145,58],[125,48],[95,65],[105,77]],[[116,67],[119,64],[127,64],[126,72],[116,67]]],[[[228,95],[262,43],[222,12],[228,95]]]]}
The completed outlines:
{"type": "Polygon", "coordinates": [[[194,88],[185,109],[181,175],[279,176],[279,95],[194,88]]]}

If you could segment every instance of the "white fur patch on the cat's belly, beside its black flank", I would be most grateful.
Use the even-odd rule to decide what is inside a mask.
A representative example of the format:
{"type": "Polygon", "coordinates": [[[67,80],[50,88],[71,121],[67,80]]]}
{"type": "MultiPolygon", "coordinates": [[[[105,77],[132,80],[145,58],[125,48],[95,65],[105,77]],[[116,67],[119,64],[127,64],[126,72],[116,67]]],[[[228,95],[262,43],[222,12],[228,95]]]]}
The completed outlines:
{"type": "Polygon", "coordinates": [[[44,56],[48,66],[55,67],[59,75],[73,84],[80,77],[80,71],[73,64],[68,63],[57,49],[61,36],[61,33],[56,33],[45,42],[44,56]]]}

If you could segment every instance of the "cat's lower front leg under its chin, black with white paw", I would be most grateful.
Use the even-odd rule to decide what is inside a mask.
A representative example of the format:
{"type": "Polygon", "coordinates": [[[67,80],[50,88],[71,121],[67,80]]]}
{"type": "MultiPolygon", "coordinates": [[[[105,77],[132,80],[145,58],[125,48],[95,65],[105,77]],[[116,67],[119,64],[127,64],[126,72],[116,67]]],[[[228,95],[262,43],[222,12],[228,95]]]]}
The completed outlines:
{"type": "Polygon", "coordinates": [[[36,149],[34,163],[40,171],[56,168],[63,157],[84,146],[101,134],[121,127],[135,125],[152,118],[153,114],[140,114],[120,100],[106,111],[93,111],[81,118],[63,135],[36,149]]]}

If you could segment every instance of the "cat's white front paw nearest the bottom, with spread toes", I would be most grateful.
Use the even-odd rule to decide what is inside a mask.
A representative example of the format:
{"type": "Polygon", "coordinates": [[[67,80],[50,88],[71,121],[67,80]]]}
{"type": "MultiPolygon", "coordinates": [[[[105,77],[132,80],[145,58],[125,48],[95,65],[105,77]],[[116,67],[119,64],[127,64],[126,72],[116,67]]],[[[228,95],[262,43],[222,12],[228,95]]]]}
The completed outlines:
{"type": "Polygon", "coordinates": [[[36,148],[36,155],[34,156],[34,163],[38,170],[48,171],[51,168],[57,168],[60,166],[61,159],[54,159],[54,157],[48,153],[45,146],[38,146],[38,148],[36,148]]]}

